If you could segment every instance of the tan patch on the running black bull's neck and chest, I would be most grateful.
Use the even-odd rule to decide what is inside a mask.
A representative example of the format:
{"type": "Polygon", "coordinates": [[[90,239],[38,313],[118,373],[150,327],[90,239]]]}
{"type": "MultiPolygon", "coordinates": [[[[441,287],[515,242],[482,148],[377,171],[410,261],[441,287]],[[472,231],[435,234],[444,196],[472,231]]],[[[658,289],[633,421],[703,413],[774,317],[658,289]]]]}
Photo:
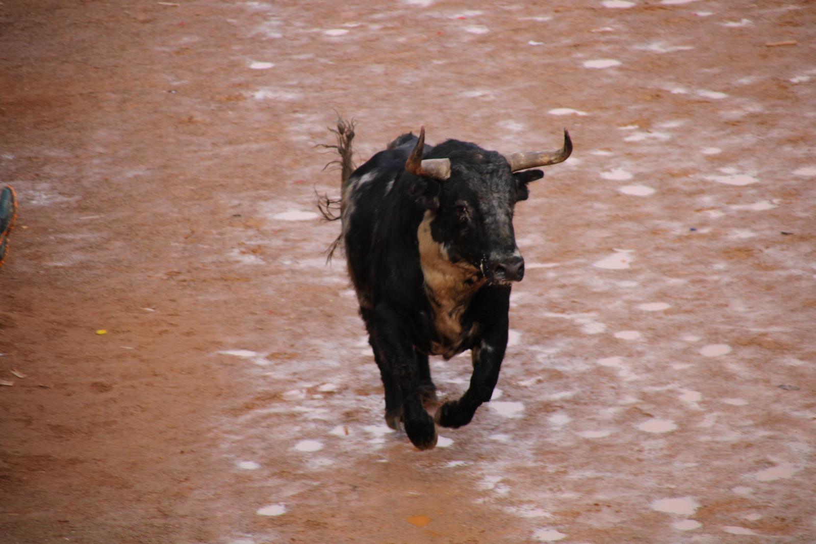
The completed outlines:
{"type": "Polygon", "coordinates": [[[432,219],[433,213],[426,211],[417,229],[419,262],[433,312],[433,327],[439,337],[439,342],[431,345],[432,354],[450,358],[462,351],[465,340],[477,334],[476,327],[463,329],[462,315],[485,280],[478,268],[450,262],[445,247],[431,236],[432,219]]]}

